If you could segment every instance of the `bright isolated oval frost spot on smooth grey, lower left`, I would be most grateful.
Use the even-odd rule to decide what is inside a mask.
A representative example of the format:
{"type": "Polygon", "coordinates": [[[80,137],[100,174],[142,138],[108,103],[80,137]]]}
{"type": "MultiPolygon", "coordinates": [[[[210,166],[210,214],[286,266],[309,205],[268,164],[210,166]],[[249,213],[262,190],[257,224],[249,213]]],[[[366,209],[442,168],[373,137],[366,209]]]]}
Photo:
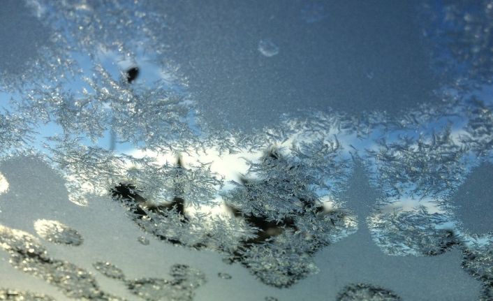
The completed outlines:
{"type": "Polygon", "coordinates": [[[55,244],[70,244],[79,246],[84,241],[82,235],[59,221],[50,221],[47,219],[38,219],[34,222],[34,230],[39,236],[48,242],[55,244]]]}

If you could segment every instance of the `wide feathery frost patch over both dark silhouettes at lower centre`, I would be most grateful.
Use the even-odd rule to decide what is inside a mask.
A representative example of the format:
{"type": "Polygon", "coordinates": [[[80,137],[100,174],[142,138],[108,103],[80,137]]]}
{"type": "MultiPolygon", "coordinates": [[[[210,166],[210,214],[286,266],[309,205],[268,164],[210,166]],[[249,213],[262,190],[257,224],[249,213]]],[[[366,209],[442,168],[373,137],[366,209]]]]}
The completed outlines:
{"type": "MultiPolygon", "coordinates": [[[[304,154],[302,149],[295,153],[304,154]]],[[[326,146],[314,154],[328,156],[337,150],[326,146]]],[[[266,284],[290,286],[318,271],[311,254],[353,232],[356,225],[346,210],[323,209],[316,191],[330,188],[311,176],[316,174],[309,164],[320,162],[315,155],[309,158],[284,158],[274,149],[261,163],[250,162],[251,179],[245,177],[235,183],[237,189],[223,193],[229,214],[187,214],[187,206],[214,205],[211,199],[221,182],[207,165],[188,169],[181,160],[175,166],[131,168],[132,184],[120,183],[112,194],[140,228],[160,240],[224,251],[266,284]],[[147,183],[152,186],[140,189],[147,183]]]]}

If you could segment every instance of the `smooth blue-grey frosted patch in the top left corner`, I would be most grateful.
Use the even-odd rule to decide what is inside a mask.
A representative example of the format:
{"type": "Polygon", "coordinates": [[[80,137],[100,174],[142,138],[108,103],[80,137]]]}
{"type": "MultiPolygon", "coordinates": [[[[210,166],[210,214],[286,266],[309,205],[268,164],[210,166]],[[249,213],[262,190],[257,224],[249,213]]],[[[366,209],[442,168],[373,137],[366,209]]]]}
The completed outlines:
{"type": "Polygon", "coordinates": [[[30,1],[8,1],[0,12],[3,45],[0,89],[22,91],[34,82],[59,81],[71,73],[73,60],[63,35],[43,24],[30,1]]]}

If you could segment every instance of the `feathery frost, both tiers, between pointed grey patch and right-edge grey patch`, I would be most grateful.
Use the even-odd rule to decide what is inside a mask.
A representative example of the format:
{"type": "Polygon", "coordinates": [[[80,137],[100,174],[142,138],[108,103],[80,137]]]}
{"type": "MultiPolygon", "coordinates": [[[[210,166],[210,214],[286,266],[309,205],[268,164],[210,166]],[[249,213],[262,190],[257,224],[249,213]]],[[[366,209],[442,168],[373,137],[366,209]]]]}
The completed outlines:
{"type": "Polygon", "coordinates": [[[469,149],[452,137],[450,126],[418,138],[379,140],[378,150],[368,153],[376,166],[374,184],[384,192],[368,218],[377,244],[393,255],[437,255],[459,244],[457,234],[446,226],[454,220],[448,200],[464,182],[469,149]],[[397,207],[383,212],[385,204],[404,200],[418,202],[411,211],[397,207]],[[425,204],[439,211],[430,213],[425,204]]]}

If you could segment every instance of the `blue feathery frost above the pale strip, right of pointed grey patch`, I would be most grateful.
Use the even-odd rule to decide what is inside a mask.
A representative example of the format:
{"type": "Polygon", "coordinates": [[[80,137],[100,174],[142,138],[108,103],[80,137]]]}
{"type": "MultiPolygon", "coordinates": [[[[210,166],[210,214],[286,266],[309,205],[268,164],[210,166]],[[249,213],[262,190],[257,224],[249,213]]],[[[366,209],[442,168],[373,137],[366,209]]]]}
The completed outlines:
{"type": "Polygon", "coordinates": [[[452,139],[450,127],[429,136],[380,140],[369,154],[378,169],[375,182],[391,198],[447,198],[463,181],[466,149],[452,139]]]}

